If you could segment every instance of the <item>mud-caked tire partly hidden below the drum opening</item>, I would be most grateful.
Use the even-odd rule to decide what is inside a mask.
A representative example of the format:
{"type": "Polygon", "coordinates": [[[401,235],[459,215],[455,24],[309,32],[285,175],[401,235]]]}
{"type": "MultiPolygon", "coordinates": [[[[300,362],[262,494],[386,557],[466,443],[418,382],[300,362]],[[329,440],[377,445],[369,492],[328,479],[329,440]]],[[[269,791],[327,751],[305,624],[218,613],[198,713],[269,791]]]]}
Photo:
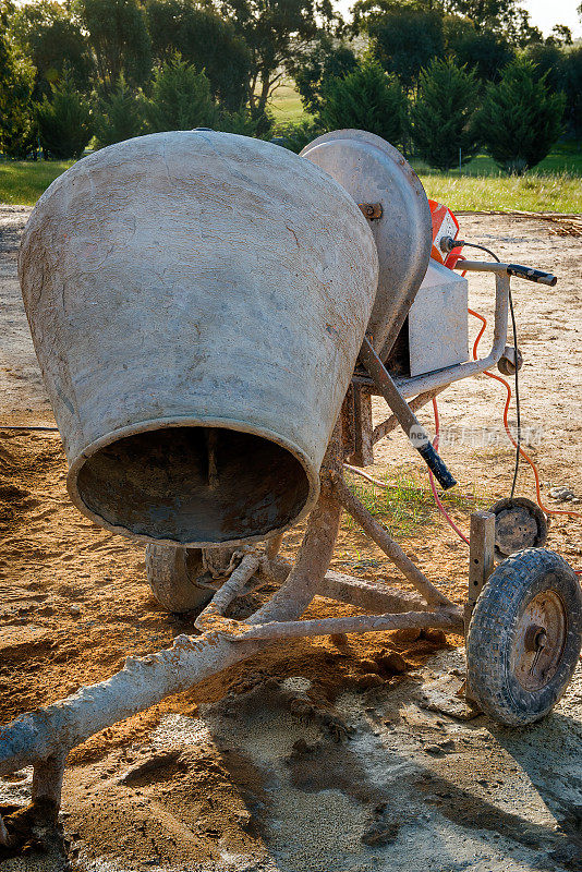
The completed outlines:
{"type": "Polygon", "coordinates": [[[214,591],[193,581],[203,572],[199,548],[146,546],[146,573],[151,592],[174,615],[201,609],[210,601],[214,591]]]}

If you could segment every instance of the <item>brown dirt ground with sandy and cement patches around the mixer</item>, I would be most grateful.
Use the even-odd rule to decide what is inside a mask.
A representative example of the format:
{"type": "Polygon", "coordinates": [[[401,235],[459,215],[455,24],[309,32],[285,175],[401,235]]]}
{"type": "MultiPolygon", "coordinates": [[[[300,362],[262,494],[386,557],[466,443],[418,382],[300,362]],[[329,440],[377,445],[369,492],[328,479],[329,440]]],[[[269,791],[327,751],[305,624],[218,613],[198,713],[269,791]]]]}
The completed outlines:
{"type": "MultiPolygon", "coordinates": [[[[0,207],[0,724],[109,677],[129,654],[147,654],[192,630],[191,618],[168,616],[150,594],[143,547],[72,507],[58,434],[2,428],[53,425],[16,281],[26,217],[26,209],[0,207]]],[[[577,510],[581,504],[558,505],[548,492],[566,485],[582,497],[582,244],[554,230],[516,217],[461,217],[464,239],[559,278],[553,289],[513,282],[525,359],[522,415],[532,428],[529,450],[544,499],[577,510]]],[[[492,278],[472,278],[472,307],[490,316],[492,302],[492,278]]],[[[487,341],[490,331],[482,349],[487,341]]],[[[441,453],[461,494],[448,505],[464,530],[475,506],[506,496],[511,484],[504,401],[502,387],[485,377],[459,383],[439,399],[441,453]]],[[[386,407],[375,401],[376,420],[385,416],[386,407]]],[[[429,410],[420,416],[432,425],[429,410]]],[[[378,445],[369,471],[412,475],[426,491],[401,436],[378,445]]],[[[525,464],[518,493],[534,494],[525,464]]],[[[466,548],[427,498],[417,518],[397,529],[405,550],[461,603],[466,548]]],[[[581,529],[580,520],[557,516],[548,540],[577,568],[581,529]]],[[[287,556],[301,533],[286,536],[287,556]]],[[[342,528],[335,567],[400,583],[353,525],[342,528]]],[[[316,598],[308,614],[345,610],[316,598]]],[[[483,716],[465,719],[460,703],[451,707],[463,676],[461,642],[376,633],[272,647],[76,749],[61,832],[45,839],[44,851],[29,845],[19,857],[0,858],[0,868],[582,870],[581,670],[545,722],[523,732],[501,729],[483,716]],[[445,711],[441,699],[449,701],[445,711]],[[301,717],[298,700],[307,703],[301,717]]],[[[23,771],[0,779],[0,803],[24,804],[31,778],[23,771]]]]}

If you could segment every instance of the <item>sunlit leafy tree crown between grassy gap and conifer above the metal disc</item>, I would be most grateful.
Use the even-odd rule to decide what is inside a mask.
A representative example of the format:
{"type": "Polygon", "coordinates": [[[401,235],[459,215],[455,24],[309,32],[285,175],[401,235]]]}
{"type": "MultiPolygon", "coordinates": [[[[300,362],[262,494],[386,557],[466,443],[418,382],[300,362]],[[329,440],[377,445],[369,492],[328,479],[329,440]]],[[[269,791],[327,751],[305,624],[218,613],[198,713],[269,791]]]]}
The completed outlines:
{"type": "Polygon", "coordinates": [[[322,34],[315,39],[290,68],[307,112],[317,114],[327,83],[331,78],[348,75],[356,65],[357,59],[345,43],[334,39],[329,34],[322,34]]]}

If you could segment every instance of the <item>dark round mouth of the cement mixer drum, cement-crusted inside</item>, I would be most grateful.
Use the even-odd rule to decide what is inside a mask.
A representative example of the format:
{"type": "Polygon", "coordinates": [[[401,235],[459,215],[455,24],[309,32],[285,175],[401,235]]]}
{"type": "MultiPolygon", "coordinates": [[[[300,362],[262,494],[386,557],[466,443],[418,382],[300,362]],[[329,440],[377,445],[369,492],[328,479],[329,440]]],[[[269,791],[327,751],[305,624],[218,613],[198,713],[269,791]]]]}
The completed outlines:
{"type": "Polygon", "coordinates": [[[310,495],[305,469],[287,448],[205,426],[110,443],[85,460],[74,486],[106,526],[182,545],[265,536],[288,526],[310,495]]]}

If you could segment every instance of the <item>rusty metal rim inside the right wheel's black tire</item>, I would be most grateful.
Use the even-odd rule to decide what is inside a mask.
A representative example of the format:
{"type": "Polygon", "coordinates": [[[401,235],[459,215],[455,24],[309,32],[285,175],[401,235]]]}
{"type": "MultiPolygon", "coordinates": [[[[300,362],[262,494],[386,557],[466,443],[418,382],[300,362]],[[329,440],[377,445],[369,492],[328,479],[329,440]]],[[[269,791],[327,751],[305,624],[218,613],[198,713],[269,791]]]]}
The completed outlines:
{"type": "Polygon", "coordinates": [[[525,607],[516,632],[511,667],[530,692],[545,688],[556,675],[568,637],[568,616],[561,596],[544,590],[525,607]]]}

